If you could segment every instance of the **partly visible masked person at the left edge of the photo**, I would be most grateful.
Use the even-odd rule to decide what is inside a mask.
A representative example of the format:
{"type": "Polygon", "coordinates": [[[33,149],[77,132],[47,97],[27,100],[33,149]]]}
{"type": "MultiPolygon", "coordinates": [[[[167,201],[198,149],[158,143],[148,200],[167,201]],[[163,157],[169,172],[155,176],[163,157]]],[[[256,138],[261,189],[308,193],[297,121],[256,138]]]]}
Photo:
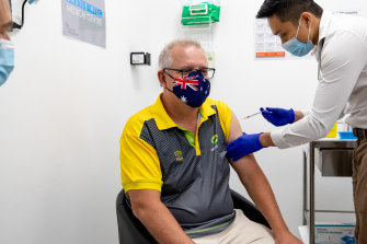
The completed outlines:
{"type": "Polygon", "coordinates": [[[11,24],[9,0],[0,0],[0,86],[14,68],[14,45],[8,34],[11,24]]]}

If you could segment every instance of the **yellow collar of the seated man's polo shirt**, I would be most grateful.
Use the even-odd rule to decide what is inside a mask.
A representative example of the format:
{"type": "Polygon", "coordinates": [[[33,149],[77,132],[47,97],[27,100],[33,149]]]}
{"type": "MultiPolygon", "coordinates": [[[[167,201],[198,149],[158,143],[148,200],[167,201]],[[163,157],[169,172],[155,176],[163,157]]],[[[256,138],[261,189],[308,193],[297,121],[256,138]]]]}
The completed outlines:
{"type": "MultiPolygon", "coordinates": [[[[162,93],[158,96],[156,103],[152,105],[152,114],[156,119],[157,127],[159,130],[165,130],[174,127],[179,127],[172,118],[167,114],[167,111],[163,106],[161,100],[162,93]]],[[[210,106],[208,100],[204,102],[204,104],[199,107],[199,113],[202,115],[202,119],[206,120],[209,116],[215,115],[216,111],[210,106]]]]}

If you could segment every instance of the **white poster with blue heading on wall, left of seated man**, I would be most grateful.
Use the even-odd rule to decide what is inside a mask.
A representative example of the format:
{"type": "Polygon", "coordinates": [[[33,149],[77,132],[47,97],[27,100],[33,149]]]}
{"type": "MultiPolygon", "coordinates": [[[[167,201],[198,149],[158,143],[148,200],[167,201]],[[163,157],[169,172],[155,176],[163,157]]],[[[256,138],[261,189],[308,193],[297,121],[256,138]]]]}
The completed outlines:
{"type": "Polygon", "coordinates": [[[106,47],[104,0],[61,0],[62,35],[106,47]]]}

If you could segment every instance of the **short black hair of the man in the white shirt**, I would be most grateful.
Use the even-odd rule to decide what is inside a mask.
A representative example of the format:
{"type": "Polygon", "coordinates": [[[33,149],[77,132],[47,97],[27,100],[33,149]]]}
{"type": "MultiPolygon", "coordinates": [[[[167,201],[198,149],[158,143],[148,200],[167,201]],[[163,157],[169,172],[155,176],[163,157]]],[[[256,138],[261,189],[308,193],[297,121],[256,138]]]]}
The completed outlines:
{"type": "Polygon", "coordinates": [[[303,12],[321,18],[323,10],[313,0],[265,0],[256,18],[269,18],[275,14],[282,22],[290,21],[297,26],[303,12]]]}

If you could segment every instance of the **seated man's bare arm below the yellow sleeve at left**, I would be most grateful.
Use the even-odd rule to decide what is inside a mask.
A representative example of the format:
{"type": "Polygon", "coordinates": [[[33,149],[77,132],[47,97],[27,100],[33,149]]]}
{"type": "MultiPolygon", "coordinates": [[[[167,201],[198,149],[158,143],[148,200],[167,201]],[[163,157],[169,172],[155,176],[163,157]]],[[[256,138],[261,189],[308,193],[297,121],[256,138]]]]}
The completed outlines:
{"type": "Polygon", "coordinates": [[[161,202],[149,204],[135,211],[135,216],[161,244],[193,244],[170,210],[161,202]]]}

